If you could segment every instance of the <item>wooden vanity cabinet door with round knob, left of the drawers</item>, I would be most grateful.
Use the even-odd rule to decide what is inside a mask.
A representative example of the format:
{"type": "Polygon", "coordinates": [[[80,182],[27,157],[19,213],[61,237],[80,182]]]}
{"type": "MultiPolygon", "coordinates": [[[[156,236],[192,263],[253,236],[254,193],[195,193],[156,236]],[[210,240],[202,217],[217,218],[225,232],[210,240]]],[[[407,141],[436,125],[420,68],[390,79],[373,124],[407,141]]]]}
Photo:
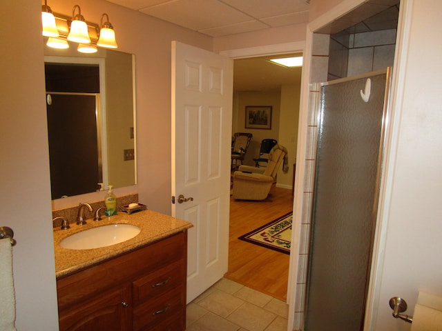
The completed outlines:
{"type": "Polygon", "coordinates": [[[60,331],[132,330],[131,291],[127,287],[84,298],[81,306],[61,312],[60,331]]]}

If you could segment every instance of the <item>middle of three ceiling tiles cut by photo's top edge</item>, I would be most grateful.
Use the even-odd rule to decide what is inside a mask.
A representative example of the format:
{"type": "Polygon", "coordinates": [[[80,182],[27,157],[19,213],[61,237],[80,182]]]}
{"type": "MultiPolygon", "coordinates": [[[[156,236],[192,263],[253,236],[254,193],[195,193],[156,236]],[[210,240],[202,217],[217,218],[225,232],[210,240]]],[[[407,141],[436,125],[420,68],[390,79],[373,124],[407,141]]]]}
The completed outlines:
{"type": "Polygon", "coordinates": [[[216,0],[169,1],[140,11],[192,30],[217,28],[251,19],[248,15],[216,0]]]}

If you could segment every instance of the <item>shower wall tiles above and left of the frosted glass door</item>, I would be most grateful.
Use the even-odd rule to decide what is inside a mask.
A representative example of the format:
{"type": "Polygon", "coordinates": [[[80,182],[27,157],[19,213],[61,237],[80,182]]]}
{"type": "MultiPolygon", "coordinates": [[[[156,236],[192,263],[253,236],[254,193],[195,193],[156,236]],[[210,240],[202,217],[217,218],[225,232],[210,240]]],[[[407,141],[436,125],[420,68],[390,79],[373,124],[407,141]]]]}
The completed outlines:
{"type": "Polygon", "coordinates": [[[311,211],[316,169],[320,83],[393,66],[396,29],[356,34],[314,34],[307,110],[305,176],[299,240],[294,330],[303,330],[311,211]]]}

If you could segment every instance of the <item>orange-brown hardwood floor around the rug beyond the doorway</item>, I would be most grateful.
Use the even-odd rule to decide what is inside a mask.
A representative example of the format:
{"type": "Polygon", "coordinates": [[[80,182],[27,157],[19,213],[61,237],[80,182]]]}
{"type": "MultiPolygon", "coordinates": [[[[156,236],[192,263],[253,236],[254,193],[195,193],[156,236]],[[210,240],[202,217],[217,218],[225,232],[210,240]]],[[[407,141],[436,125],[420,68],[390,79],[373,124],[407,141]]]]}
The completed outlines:
{"type": "Polygon", "coordinates": [[[230,201],[229,268],[227,279],[285,301],[289,278],[289,254],[238,240],[281,217],[293,208],[291,190],[273,187],[264,201],[230,201]]]}

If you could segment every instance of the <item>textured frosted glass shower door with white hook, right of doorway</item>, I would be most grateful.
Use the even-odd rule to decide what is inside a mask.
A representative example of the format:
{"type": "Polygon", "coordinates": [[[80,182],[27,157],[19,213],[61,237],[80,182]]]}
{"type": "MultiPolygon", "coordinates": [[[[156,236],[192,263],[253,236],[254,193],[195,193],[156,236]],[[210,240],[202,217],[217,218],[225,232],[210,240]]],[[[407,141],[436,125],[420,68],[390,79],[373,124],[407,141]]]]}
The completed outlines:
{"type": "Polygon", "coordinates": [[[306,331],[363,330],[387,72],[338,79],[321,89],[306,331]]]}

